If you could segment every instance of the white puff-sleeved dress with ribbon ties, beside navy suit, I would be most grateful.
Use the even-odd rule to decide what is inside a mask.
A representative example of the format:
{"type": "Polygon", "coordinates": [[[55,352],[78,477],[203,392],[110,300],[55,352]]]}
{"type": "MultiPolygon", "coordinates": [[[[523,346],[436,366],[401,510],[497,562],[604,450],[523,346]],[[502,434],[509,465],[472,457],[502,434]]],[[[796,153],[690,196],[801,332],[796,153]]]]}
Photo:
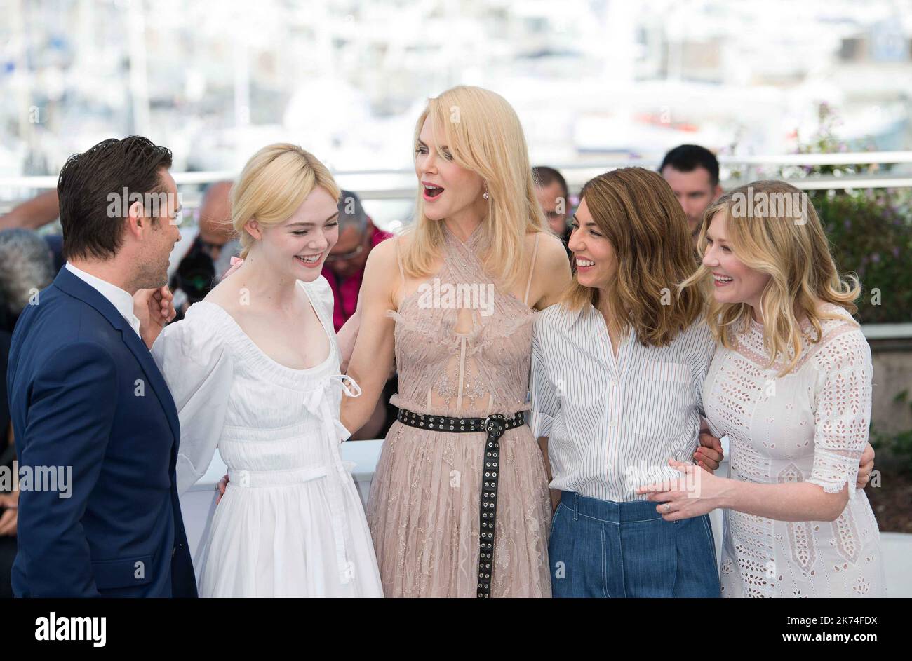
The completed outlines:
{"type": "Polygon", "coordinates": [[[348,436],[338,421],[341,391],[359,388],[339,374],[329,284],[322,276],[298,284],[330,338],[316,367],[276,363],[206,301],[152,347],[181,418],[178,490],[200,479],[216,448],[231,480],[198,551],[200,596],[383,595],[339,454],[348,436]]]}

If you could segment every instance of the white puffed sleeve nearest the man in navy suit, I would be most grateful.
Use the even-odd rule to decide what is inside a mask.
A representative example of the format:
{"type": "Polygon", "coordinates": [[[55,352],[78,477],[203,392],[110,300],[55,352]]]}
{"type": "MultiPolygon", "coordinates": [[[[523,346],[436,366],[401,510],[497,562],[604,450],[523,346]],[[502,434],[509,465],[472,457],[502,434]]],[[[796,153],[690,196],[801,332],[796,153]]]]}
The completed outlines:
{"type": "Polygon", "coordinates": [[[179,494],[209,469],[222,436],[234,371],[230,347],[214,325],[193,312],[191,308],[183,320],[165,326],[152,346],[181,421],[179,494]]]}

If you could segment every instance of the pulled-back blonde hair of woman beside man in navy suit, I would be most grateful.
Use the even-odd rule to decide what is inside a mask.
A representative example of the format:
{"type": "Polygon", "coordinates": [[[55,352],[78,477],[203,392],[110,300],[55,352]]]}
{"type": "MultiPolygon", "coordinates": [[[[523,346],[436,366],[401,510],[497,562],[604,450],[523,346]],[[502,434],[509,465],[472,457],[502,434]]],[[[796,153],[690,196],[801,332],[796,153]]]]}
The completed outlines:
{"type": "Polygon", "coordinates": [[[241,236],[242,259],[255,241],[244,228],[248,221],[267,227],[285,222],[317,186],[336,200],[341,194],[326,166],[297,145],[266,145],[250,157],[231,191],[232,225],[241,236]]]}

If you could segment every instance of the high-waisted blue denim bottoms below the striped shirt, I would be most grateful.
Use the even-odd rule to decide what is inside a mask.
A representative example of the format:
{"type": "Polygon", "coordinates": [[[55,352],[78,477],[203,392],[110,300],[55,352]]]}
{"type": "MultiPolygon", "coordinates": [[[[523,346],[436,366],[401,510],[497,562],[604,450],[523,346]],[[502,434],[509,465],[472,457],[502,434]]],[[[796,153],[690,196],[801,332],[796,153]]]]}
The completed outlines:
{"type": "Polygon", "coordinates": [[[548,557],[555,597],[718,597],[709,515],[667,522],[656,502],[564,491],[548,557]]]}

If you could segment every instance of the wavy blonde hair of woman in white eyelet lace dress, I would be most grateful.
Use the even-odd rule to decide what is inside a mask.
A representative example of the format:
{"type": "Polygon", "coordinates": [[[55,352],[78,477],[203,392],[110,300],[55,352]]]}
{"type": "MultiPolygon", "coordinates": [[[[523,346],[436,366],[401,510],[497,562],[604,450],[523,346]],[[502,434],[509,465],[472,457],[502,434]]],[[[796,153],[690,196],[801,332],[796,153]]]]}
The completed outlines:
{"type": "MultiPolygon", "coordinates": [[[[726,240],[732,253],[748,267],[771,276],[760,297],[763,340],[770,352],[767,367],[781,360],[782,377],[801,359],[803,319],[814,327],[810,341],[816,343],[821,338],[822,320],[844,318],[818,309],[818,300],[855,314],[855,300],[861,293],[858,278],[855,274],[840,276],[814,205],[789,183],[753,181],[710,204],[700,226],[701,254],[706,250],[710,222],[719,213],[725,214],[726,240]]],[[[712,286],[711,269],[703,265],[680,284],[682,289],[699,287],[704,292],[713,335],[723,346],[733,348],[734,336],[751,323],[751,305],[718,303],[712,286]]]]}

